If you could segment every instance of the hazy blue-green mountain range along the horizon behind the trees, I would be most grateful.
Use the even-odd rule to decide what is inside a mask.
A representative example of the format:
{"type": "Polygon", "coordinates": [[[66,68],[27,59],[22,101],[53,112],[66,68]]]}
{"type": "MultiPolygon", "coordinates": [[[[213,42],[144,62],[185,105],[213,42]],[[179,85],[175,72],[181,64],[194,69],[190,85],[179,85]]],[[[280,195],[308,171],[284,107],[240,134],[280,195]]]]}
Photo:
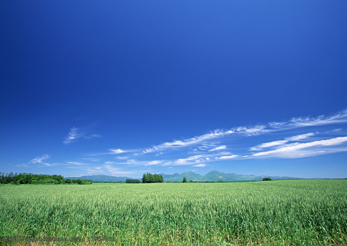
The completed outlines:
{"type": "MultiPolygon", "coordinates": [[[[165,173],[158,173],[159,175],[162,175],[164,178],[164,181],[182,181],[183,177],[186,177],[187,180],[194,180],[194,181],[246,181],[246,180],[263,180],[263,178],[271,178],[274,179],[301,179],[301,178],[295,178],[295,177],[279,177],[279,176],[256,176],[256,175],[243,175],[243,174],[236,174],[236,173],[224,173],[219,172],[217,170],[213,170],[209,173],[206,173],[205,175],[200,175],[194,172],[184,172],[184,173],[174,173],[174,174],[165,174],[165,173]]],[[[99,181],[99,182],[112,182],[112,181],[125,181],[126,179],[132,179],[130,177],[116,177],[116,176],[108,176],[108,175],[90,175],[90,176],[81,176],[81,177],[68,177],[68,179],[88,179],[92,181],[99,181]]],[[[141,179],[141,178],[136,178],[141,179]]]]}

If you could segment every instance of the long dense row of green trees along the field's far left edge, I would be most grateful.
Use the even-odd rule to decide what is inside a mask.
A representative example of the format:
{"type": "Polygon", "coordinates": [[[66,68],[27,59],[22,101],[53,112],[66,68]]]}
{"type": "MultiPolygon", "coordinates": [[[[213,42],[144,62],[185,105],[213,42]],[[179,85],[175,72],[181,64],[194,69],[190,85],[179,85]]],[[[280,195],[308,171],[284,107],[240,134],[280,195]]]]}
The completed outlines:
{"type": "Polygon", "coordinates": [[[64,179],[61,175],[48,175],[48,174],[33,174],[33,173],[5,173],[0,172],[1,184],[78,184],[90,185],[92,180],[84,179],[64,179]]]}

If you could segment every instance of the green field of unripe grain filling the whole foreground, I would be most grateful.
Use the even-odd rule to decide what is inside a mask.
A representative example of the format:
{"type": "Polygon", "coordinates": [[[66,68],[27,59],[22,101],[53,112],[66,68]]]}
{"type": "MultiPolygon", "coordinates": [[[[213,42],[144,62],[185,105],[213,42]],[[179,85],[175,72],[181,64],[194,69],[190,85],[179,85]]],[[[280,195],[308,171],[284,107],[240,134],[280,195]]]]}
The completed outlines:
{"type": "Polygon", "coordinates": [[[347,180],[5,185],[0,191],[1,237],[68,239],[45,245],[347,242],[347,180]]]}

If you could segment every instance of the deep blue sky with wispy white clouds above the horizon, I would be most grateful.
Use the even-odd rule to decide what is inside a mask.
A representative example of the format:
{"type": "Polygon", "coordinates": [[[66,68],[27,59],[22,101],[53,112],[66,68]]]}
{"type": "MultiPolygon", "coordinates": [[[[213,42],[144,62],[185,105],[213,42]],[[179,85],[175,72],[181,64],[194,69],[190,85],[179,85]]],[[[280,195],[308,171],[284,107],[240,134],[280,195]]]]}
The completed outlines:
{"type": "Polygon", "coordinates": [[[347,177],[346,1],[0,3],[0,171],[347,177]]]}

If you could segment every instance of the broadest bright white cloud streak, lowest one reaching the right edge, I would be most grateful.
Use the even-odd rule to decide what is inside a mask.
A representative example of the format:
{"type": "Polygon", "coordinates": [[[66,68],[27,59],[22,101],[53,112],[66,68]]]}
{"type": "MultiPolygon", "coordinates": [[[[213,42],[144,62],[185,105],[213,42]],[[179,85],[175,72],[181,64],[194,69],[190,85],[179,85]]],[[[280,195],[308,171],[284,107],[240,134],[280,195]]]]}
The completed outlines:
{"type": "Polygon", "coordinates": [[[287,146],[284,146],[284,147],[279,147],[278,149],[275,149],[275,150],[254,153],[251,156],[253,157],[276,156],[281,158],[299,158],[299,157],[302,157],[303,155],[309,155],[309,154],[311,155],[311,154],[317,154],[317,153],[334,153],[334,152],[346,151],[347,149],[346,148],[330,149],[329,147],[334,145],[340,145],[345,142],[347,142],[347,137],[336,137],[336,138],[331,138],[326,140],[313,141],[309,143],[293,143],[293,144],[288,144],[287,146]],[[317,150],[317,147],[319,147],[320,149],[318,151],[312,152],[312,147],[315,147],[316,150],[317,150]],[[308,149],[308,150],[305,150],[305,149],[308,149]]]}

